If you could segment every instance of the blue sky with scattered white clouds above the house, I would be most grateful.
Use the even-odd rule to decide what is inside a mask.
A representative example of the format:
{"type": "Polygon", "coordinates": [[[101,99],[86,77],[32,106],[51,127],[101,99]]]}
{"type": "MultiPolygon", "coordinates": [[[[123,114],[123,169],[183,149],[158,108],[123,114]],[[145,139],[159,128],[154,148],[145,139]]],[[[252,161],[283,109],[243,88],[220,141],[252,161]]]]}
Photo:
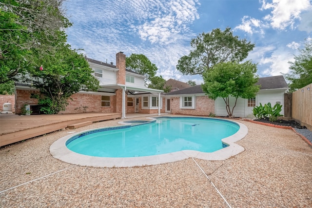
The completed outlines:
{"type": "MultiPolygon", "coordinates": [[[[312,0],[67,0],[68,43],[88,58],[116,64],[116,53],[144,54],[157,75],[202,83],[176,70],[200,33],[231,27],[255,44],[247,60],[259,77],[289,72],[289,61],[312,38],[312,0]]],[[[244,60],[245,61],[245,60],[244,60]]]]}

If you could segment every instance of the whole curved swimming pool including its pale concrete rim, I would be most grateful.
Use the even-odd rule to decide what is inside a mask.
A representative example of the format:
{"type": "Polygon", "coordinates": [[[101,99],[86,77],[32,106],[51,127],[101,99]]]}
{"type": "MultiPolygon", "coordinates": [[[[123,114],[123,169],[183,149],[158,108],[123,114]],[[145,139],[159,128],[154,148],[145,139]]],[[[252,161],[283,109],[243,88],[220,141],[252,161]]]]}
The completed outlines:
{"type": "Polygon", "coordinates": [[[224,160],[244,150],[234,142],[248,131],[234,121],[199,117],[162,117],[123,124],[63,137],[50,152],[64,162],[102,167],[154,165],[189,157],[224,160]]]}

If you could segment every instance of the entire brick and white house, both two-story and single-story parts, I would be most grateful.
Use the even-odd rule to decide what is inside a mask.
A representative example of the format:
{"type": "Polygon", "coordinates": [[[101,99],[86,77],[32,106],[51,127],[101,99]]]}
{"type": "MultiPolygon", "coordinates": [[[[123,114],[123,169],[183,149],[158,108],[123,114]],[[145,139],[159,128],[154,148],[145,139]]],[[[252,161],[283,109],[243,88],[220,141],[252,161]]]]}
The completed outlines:
{"type": "MultiPolygon", "coordinates": [[[[127,113],[158,114],[173,113],[184,115],[227,116],[225,103],[222,98],[215,101],[208,98],[202,91],[201,85],[188,87],[187,83],[170,79],[175,90],[163,93],[163,90],[151,89],[145,86],[145,76],[126,69],[126,56],[116,54],[116,65],[85,58],[94,71],[94,76],[100,82],[97,92],[80,91],[68,99],[68,106],[60,113],[103,112],[121,113],[122,118],[127,113]]],[[[259,78],[260,91],[255,98],[238,98],[233,115],[237,117],[253,118],[254,106],[279,103],[284,105],[284,93],[288,84],[283,76],[259,78]]],[[[17,84],[15,94],[15,113],[20,114],[22,107],[38,106],[37,99],[31,94],[39,93],[38,89],[27,84],[17,84]]],[[[230,105],[234,105],[234,98],[230,98],[230,105]]],[[[284,114],[282,108],[281,114],[284,114]]]]}

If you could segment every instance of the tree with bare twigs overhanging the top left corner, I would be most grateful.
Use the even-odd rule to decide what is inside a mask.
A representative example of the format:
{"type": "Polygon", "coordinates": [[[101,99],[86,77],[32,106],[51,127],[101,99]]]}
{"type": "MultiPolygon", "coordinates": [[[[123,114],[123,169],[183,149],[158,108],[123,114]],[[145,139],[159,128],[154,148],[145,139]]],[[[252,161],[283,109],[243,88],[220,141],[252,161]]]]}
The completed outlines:
{"type": "MultiPolygon", "coordinates": [[[[0,83],[17,81],[32,64],[32,50],[51,54],[60,30],[70,26],[63,0],[0,1],[0,83]]],[[[65,39],[66,41],[66,39],[65,39]]]]}

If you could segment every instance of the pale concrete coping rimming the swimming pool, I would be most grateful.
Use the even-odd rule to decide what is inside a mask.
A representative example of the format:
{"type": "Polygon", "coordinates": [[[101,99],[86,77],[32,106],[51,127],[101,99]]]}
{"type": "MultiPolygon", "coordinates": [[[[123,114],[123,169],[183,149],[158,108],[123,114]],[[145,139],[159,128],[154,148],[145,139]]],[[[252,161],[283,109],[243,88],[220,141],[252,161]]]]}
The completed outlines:
{"type": "MultiPolygon", "coordinates": [[[[192,118],[192,117],[187,117],[187,116],[183,116],[183,117],[192,118]]],[[[195,118],[203,118],[203,117],[195,117],[195,118]]],[[[147,119],[150,119],[151,122],[156,121],[155,118],[147,118],[147,119]]],[[[213,118],[213,119],[227,121],[226,119],[218,119],[218,118],[213,118]]],[[[161,154],[161,155],[153,155],[153,156],[111,158],[111,157],[95,157],[95,156],[82,155],[82,154],[73,152],[66,147],[66,142],[68,139],[72,138],[73,136],[77,134],[81,134],[84,132],[98,129],[98,128],[95,128],[95,129],[88,129],[84,131],[75,132],[75,133],[72,133],[70,135],[67,135],[58,139],[50,146],[50,153],[54,158],[59,159],[60,161],[63,161],[63,162],[74,164],[74,165],[79,165],[79,166],[92,166],[92,167],[152,166],[152,165],[176,162],[176,161],[184,160],[187,158],[198,158],[198,159],[212,160],[212,161],[226,160],[245,150],[244,147],[235,144],[235,142],[243,139],[248,133],[248,128],[246,125],[236,122],[236,121],[231,121],[231,122],[234,122],[237,125],[239,125],[239,130],[235,134],[221,140],[224,144],[227,144],[229,146],[216,150],[214,152],[199,152],[195,150],[182,150],[178,152],[172,152],[172,153],[161,154]]],[[[118,122],[118,123],[129,125],[129,121],[127,121],[127,123],[125,122],[118,122]]]]}

